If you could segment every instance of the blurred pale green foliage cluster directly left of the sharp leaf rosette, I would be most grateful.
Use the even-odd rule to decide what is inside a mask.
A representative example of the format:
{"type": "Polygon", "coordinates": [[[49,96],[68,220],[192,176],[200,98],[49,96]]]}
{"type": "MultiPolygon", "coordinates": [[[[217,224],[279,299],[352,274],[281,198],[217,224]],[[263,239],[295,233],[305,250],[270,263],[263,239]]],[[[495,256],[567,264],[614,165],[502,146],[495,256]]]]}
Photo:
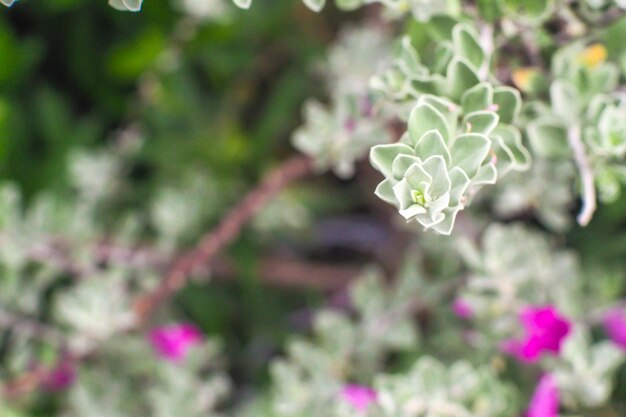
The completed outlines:
{"type": "Polygon", "coordinates": [[[330,80],[330,105],[307,101],[304,125],[293,134],[294,146],[318,169],[351,177],[356,161],[373,145],[389,141],[385,119],[377,114],[378,98],[367,91],[369,78],[385,65],[388,47],[383,32],[361,28],[343,32],[329,52],[324,73],[330,80]]]}

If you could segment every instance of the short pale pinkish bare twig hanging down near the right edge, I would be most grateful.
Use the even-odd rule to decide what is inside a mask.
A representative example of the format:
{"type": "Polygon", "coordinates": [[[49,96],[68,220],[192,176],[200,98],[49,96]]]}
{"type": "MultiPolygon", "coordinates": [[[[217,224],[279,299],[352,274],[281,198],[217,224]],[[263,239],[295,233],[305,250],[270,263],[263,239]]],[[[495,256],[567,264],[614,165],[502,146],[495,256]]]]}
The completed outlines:
{"type": "Polygon", "coordinates": [[[580,136],[579,125],[573,125],[567,130],[567,141],[574,152],[574,160],[580,172],[583,187],[583,206],[578,214],[577,220],[578,224],[581,226],[587,226],[593,217],[593,213],[596,211],[596,188],[593,171],[591,170],[589,159],[585,153],[585,146],[580,136]]]}

